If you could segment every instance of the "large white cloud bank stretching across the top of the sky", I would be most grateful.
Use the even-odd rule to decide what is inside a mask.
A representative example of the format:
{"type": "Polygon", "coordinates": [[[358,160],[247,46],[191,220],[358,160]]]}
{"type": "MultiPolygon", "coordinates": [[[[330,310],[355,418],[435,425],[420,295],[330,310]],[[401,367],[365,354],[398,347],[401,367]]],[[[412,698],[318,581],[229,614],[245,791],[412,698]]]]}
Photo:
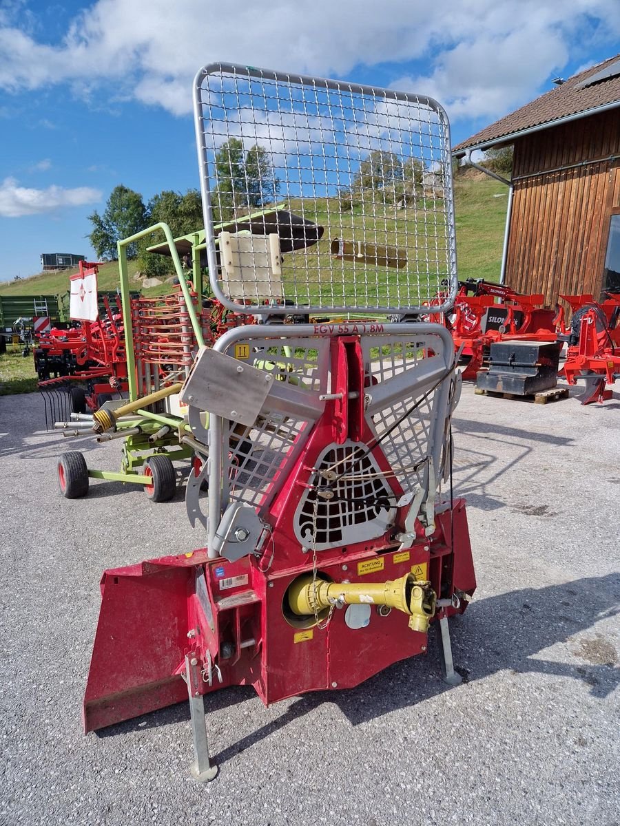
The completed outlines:
{"type": "Polygon", "coordinates": [[[494,117],[536,94],[568,62],[571,45],[620,36],[618,0],[313,0],[237,4],[215,0],[98,0],[58,45],[37,41],[16,15],[0,16],[0,88],[69,83],[97,102],[104,94],[191,112],[199,66],[231,62],[345,76],[357,64],[426,59],[404,77],[447,103],[451,116],[494,117]],[[2,25],[3,24],[3,25],[2,25]]]}

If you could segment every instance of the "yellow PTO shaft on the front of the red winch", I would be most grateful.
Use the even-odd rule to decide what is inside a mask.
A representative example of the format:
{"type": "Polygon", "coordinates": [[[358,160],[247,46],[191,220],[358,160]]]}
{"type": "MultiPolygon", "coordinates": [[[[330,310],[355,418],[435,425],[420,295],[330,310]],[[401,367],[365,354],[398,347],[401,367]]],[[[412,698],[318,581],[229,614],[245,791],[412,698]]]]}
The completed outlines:
{"type": "Polygon", "coordinates": [[[387,605],[409,615],[409,628],[426,634],[435,615],[436,595],[430,582],[416,580],[412,573],[387,582],[313,581],[303,574],[289,586],[293,614],[308,616],[331,605],[387,605]]]}

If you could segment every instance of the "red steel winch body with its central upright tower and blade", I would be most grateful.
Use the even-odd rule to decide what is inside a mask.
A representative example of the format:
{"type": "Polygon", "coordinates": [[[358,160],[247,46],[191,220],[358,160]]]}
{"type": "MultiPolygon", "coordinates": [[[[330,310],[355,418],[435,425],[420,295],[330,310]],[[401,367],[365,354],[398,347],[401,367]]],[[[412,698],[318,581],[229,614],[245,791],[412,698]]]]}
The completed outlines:
{"type": "MultiPolygon", "coordinates": [[[[430,582],[441,600],[433,621],[465,610],[476,586],[465,502],[440,500],[433,527],[416,519],[412,539],[403,544],[408,504],[400,504],[402,488],[365,413],[371,382],[360,337],[334,337],[329,348],[329,399],[317,421],[298,434],[303,449],[284,479],[279,478],[284,461],[274,473],[261,510],[268,529],[256,553],[229,561],[208,558],[203,548],[104,573],[83,703],[86,731],[184,700],[188,654],[202,674],[190,686],[194,694],[251,685],[269,704],[306,691],[357,686],[391,663],[427,650],[427,634],[410,629],[400,610],[372,605],[364,627],[354,628],[346,610],[337,608],[324,628],[314,617],[293,615],[287,591],[315,566],[318,576],[337,583],[383,583],[411,572],[417,581],[430,582]],[[393,524],[374,539],[342,544],[330,521],[339,505],[322,504],[312,535],[323,546],[329,538],[332,547],[304,547],[299,539],[299,525],[302,533],[306,525],[299,516],[303,496],[312,490],[326,448],[351,442],[368,448],[367,462],[379,468],[373,475],[389,485],[398,503],[390,510],[393,524]]],[[[283,371],[284,380],[289,376],[283,371]]],[[[350,512],[355,519],[355,507],[350,512]]],[[[365,503],[360,520],[367,513],[365,503]]]]}

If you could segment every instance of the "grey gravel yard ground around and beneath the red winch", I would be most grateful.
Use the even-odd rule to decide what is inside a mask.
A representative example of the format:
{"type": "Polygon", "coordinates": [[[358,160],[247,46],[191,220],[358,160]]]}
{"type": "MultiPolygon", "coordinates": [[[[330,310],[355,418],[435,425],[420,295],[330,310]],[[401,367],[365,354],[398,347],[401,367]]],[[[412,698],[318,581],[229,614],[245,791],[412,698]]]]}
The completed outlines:
{"type": "MultiPolygon", "coordinates": [[[[265,709],[207,698],[220,767],[188,776],[188,706],[84,737],[83,686],[106,567],[203,544],[183,493],[56,491],[55,457],[119,445],[42,432],[36,395],[0,398],[0,824],[620,824],[620,399],[582,407],[475,396],[455,413],[479,587],[437,653],[353,691],[265,709]]],[[[432,640],[434,643],[434,638],[432,640]]]]}

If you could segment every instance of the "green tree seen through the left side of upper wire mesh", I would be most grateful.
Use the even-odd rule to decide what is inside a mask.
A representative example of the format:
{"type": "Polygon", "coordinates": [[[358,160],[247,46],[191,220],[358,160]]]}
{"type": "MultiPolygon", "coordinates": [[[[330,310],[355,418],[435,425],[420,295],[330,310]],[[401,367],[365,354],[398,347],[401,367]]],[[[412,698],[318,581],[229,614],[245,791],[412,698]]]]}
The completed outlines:
{"type": "Polygon", "coordinates": [[[217,150],[215,173],[212,206],[216,223],[263,207],[279,192],[279,178],[275,177],[268,151],[255,144],[244,155],[239,138],[229,138],[217,150]]]}

